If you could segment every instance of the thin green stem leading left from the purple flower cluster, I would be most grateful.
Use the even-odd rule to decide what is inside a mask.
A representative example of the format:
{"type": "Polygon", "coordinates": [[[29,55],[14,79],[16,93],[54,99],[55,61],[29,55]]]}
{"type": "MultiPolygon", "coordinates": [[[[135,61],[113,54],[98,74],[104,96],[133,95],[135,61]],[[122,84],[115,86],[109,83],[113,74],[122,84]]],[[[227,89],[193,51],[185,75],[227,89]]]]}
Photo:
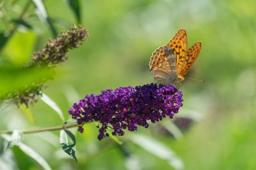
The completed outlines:
{"type": "MultiPolygon", "coordinates": [[[[39,129],[25,129],[25,130],[20,130],[19,132],[22,132],[23,134],[30,134],[30,133],[36,133],[36,132],[45,132],[45,131],[59,131],[63,129],[69,129],[72,127],[77,127],[77,124],[73,125],[67,125],[67,126],[55,126],[55,127],[44,127],[44,128],[39,128],[39,129]]],[[[0,130],[0,134],[12,134],[13,131],[8,131],[8,130],[0,130]]]]}

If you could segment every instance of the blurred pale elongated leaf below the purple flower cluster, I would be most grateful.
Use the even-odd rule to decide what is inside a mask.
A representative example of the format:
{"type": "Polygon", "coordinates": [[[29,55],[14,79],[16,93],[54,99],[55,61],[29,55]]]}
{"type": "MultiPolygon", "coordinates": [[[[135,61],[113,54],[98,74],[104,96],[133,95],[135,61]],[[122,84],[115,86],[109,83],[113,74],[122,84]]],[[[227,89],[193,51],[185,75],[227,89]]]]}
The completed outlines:
{"type": "Polygon", "coordinates": [[[141,146],[144,150],[147,150],[147,152],[156,155],[160,159],[166,160],[174,169],[184,169],[182,160],[163,143],[149,138],[148,136],[143,136],[142,134],[133,134],[131,141],[141,146]]]}

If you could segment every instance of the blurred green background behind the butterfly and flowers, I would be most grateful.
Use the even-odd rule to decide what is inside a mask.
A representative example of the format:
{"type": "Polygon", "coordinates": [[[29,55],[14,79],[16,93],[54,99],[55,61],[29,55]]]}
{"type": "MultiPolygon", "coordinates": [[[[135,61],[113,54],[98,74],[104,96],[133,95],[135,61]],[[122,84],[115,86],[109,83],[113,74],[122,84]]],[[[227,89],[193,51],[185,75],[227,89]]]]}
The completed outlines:
{"type": "MultiPolygon", "coordinates": [[[[10,22],[19,17],[27,2],[1,1],[1,35],[13,28],[10,22]]],[[[77,23],[74,11],[65,1],[43,3],[58,33],[77,23]]],[[[189,46],[202,41],[202,50],[188,76],[206,82],[182,83],[184,106],[176,116],[191,118],[194,123],[179,138],[157,130],[159,125],[166,127],[172,121],[168,119],[159,125],[150,124],[148,129],[140,127],[138,132],[127,131],[125,136],[118,137],[124,142],[122,146],[111,138],[98,141],[95,124],[85,125],[84,133],[76,134],[77,163],[61,150],[59,132],[26,134],[23,140],[26,145],[40,153],[52,169],[182,169],[143,149],[143,140],[141,145],[136,144],[134,135],[143,134],[167,146],[183,162],[184,169],[256,169],[255,1],[86,0],[79,3],[81,25],[88,29],[90,38],[68,53],[69,59],[57,67],[56,78],[47,81],[48,87],[44,89],[60,106],[65,118],[68,119],[67,111],[72,103],[86,94],[154,82],[148,69],[152,52],[165,45],[180,28],[185,28],[189,46]]],[[[49,24],[38,18],[33,3],[24,18],[31,28],[20,25],[3,47],[2,71],[6,66],[22,67],[33,52],[52,38],[49,24]]],[[[13,73],[13,79],[15,74],[19,76],[13,73]]],[[[61,125],[58,115],[42,101],[29,108],[35,124],[14,104],[4,106],[0,112],[1,129],[61,125]]],[[[7,161],[1,158],[2,162],[7,161]]],[[[42,169],[17,147],[10,152],[10,158],[8,164],[14,169],[42,169]]]]}

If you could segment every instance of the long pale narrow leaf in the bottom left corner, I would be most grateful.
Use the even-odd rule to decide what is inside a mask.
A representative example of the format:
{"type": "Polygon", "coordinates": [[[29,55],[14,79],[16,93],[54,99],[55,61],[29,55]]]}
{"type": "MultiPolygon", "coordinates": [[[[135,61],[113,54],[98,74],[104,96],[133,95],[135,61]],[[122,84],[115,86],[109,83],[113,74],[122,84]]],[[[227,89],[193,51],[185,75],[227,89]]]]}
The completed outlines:
{"type": "Polygon", "coordinates": [[[20,150],[22,150],[24,153],[29,155],[29,157],[33,158],[40,164],[45,170],[51,170],[51,167],[49,164],[44,160],[41,155],[39,155],[35,150],[30,148],[29,146],[25,145],[24,143],[20,142],[19,135],[15,132],[13,132],[12,136],[8,134],[2,134],[1,137],[4,138],[6,141],[12,143],[15,146],[18,146],[20,150]],[[13,135],[14,134],[14,135],[13,135]]]}

